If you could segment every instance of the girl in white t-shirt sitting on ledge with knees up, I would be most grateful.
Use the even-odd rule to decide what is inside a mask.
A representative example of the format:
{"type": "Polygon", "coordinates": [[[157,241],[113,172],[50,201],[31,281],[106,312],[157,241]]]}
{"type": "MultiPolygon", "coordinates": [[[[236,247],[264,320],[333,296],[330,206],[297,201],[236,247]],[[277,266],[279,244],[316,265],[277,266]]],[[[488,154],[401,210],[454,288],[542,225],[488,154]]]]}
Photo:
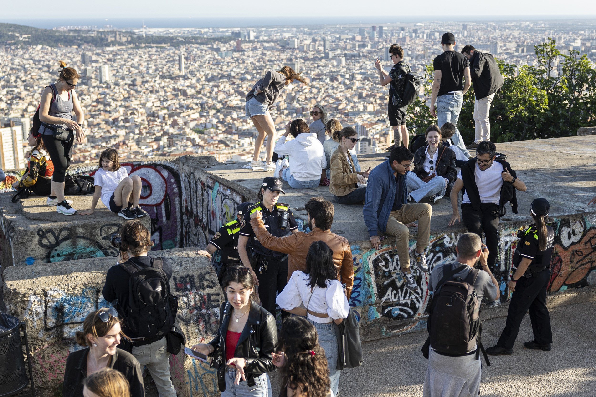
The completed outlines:
{"type": "Polygon", "coordinates": [[[80,215],[93,214],[100,198],[105,207],[125,219],[147,215],[147,212],[139,207],[141,177],[128,176],[126,168],[120,165],[118,152],[113,148],[101,152],[100,168],[95,171],[95,194],[91,210],[80,212],[80,215]],[[126,203],[128,205],[125,205],[126,203]]]}

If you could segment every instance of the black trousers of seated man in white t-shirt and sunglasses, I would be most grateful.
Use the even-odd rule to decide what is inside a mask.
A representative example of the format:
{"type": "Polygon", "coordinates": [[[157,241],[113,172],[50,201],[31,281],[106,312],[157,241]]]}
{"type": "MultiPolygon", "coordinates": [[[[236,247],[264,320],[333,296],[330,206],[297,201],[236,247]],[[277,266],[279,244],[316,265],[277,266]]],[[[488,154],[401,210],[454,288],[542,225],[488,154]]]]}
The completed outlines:
{"type": "Polygon", "coordinates": [[[496,255],[498,254],[499,243],[499,220],[501,218],[495,217],[492,211],[499,211],[499,206],[492,202],[480,203],[480,211],[474,211],[471,204],[461,205],[461,220],[470,233],[476,233],[482,239],[482,232],[485,233],[486,247],[488,248],[488,262],[489,267],[494,267],[496,263],[496,255]]]}

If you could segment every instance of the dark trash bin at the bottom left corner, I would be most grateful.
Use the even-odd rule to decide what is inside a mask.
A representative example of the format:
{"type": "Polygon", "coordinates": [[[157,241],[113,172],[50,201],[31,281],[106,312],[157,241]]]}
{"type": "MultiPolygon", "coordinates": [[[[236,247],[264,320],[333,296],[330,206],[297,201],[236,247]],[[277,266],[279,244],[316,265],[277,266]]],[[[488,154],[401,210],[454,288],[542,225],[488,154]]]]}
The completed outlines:
{"type": "Polygon", "coordinates": [[[34,395],[27,330],[24,324],[18,322],[17,317],[2,312],[0,312],[0,357],[5,358],[5,360],[0,360],[0,397],[15,395],[27,386],[29,380],[31,381],[32,395],[34,395]],[[27,347],[29,376],[25,370],[21,329],[24,331],[27,347]]]}

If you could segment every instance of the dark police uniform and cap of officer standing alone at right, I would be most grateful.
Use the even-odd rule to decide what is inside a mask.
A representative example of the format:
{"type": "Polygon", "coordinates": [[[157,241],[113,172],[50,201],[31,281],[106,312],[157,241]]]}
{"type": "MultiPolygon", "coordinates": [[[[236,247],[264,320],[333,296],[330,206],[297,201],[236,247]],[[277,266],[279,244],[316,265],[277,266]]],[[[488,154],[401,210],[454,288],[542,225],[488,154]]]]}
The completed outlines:
{"type": "MultiPolygon", "coordinates": [[[[546,201],[545,199],[542,200],[546,201]]],[[[548,210],[546,214],[548,214],[548,210]]],[[[505,329],[501,333],[496,346],[508,350],[513,349],[520,324],[522,324],[526,311],[529,311],[532,330],[534,332],[533,342],[536,345],[549,345],[548,349],[550,350],[552,333],[550,315],[547,309],[547,287],[551,275],[549,268],[551,265],[554,239],[555,232],[550,224],[547,224],[547,247],[544,251],[539,251],[536,227],[532,224],[523,233],[522,239],[517,244],[517,255],[514,254],[514,264],[519,265],[522,258],[528,258],[532,262],[527,267],[526,273],[518,280],[513,280],[512,276],[512,280],[516,281],[516,287],[511,295],[505,329]]],[[[517,266],[512,267],[515,272],[517,266]]]]}

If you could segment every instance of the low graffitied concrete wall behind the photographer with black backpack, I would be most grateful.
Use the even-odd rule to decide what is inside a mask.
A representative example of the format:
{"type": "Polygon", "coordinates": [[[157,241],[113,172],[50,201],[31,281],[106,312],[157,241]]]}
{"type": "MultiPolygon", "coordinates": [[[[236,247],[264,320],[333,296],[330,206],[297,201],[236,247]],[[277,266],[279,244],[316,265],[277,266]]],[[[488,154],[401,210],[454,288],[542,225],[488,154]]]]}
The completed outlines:
{"type": "MultiPolygon", "coordinates": [[[[153,251],[152,256],[172,262],[172,292],[178,296],[178,327],[187,345],[209,342],[219,323],[223,302],[221,287],[213,267],[195,249],[153,251]]],[[[32,350],[36,391],[41,396],[61,395],[64,366],[70,352],[80,349],[75,343],[86,315],[110,306],[101,295],[105,273],[113,258],[91,258],[44,264],[8,267],[4,273],[4,302],[11,315],[27,324],[32,350]],[[58,394],[56,394],[58,393],[58,394]]],[[[180,396],[215,396],[215,371],[182,353],[172,356],[170,367],[180,396]]]]}

